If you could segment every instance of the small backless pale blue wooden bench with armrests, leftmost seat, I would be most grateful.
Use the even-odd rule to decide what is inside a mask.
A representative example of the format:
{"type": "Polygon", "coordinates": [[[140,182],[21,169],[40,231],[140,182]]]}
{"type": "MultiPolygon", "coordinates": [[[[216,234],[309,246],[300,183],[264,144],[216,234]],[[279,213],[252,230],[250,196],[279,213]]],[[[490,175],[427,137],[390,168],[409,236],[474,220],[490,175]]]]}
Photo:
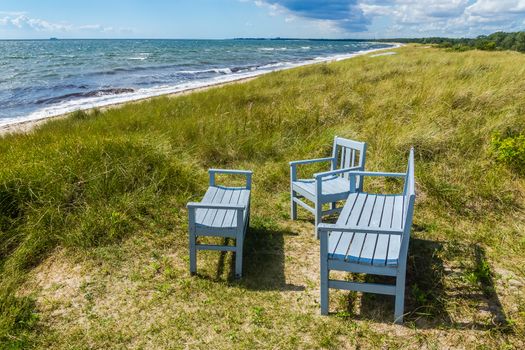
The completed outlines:
{"type": "Polygon", "coordinates": [[[197,272],[197,250],[235,252],[235,275],[242,276],[244,236],[250,219],[252,172],[245,170],[209,170],[210,183],[199,203],[188,203],[190,238],[190,273],[197,272]],[[215,174],[240,174],[246,177],[244,187],[225,187],[215,183],[215,174]],[[199,244],[198,237],[228,237],[235,246],[199,244]]]}

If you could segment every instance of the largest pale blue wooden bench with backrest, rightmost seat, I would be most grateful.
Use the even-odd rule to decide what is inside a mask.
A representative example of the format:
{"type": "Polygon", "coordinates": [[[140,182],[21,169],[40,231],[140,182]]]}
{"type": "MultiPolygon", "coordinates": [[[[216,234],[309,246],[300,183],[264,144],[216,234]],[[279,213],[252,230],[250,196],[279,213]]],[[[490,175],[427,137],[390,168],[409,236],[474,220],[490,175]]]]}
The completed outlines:
{"type": "Polygon", "coordinates": [[[329,288],[395,295],[394,320],[403,322],[405,273],[414,213],[414,149],[406,173],[351,172],[357,176],[404,178],[398,195],[351,193],[335,224],[320,224],[321,314],[328,314],[329,288]],[[395,285],[331,280],[331,270],[396,277],[395,285]]]}

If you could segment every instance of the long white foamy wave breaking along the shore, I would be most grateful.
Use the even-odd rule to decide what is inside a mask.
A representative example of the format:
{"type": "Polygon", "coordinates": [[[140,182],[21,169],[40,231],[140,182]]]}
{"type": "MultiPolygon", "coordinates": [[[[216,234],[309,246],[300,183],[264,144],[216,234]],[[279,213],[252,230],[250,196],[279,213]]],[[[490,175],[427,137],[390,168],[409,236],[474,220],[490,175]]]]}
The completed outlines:
{"type": "MultiPolygon", "coordinates": [[[[386,48],[388,50],[397,48],[402,46],[401,44],[394,44],[389,48],[386,48]]],[[[146,89],[139,89],[134,92],[130,93],[124,93],[124,94],[118,94],[118,95],[104,95],[104,96],[94,96],[94,97],[88,97],[88,98],[82,98],[78,100],[71,100],[71,101],[63,101],[56,105],[52,105],[49,107],[45,107],[43,109],[40,109],[36,112],[33,112],[25,117],[15,117],[15,118],[5,118],[0,120],[0,127],[5,127],[10,124],[18,124],[28,121],[37,121],[42,120],[66,113],[71,113],[78,110],[85,110],[85,109],[91,109],[91,108],[99,108],[99,107],[105,107],[113,104],[119,104],[134,100],[140,100],[144,98],[150,98],[165,94],[172,94],[182,91],[188,91],[198,88],[203,88],[207,86],[213,86],[221,83],[227,83],[239,79],[245,79],[245,78],[251,78],[256,77],[259,75],[267,74],[269,72],[275,72],[279,70],[289,69],[289,68],[295,68],[299,66],[305,66],[309,64],[315,64],[315,63],[321,63],[321,62],[331,62],[331,61],[340,61],[343,59],[352,58],[355,56],[364,55],[371,52],[376,51],[382,51],[385,50],[385,48],[381,49],[370,49],[370,50],[362,50],[358,52],[354,52],[351,54],[343,54],[343,55],[332,55],[332,56],[326,56],[326,57],[317,57],[315,60],[308,60],[308,61],[301,61],[301,62],[279,62],[275,64],[269,64],[266,66],[259,67],[257,70],[249,70],[249,71],[239,71],[235,73],[231,73],[231,69],[229,68],[218,68],[218,69],[212,69],[208,71],[223,71],[230,73],[219,75],[210,79],[202,79],[197,81],[191,81],[191,82],[185,82],[182,84],[177,85],[162,85],[162,86],[156,86],[152,88],[146,88],[146,89]],[[266,68],[264,68],[266,67],[266,68]]],[[[198,72],[198,71],[195,71],[198,72]]]]}

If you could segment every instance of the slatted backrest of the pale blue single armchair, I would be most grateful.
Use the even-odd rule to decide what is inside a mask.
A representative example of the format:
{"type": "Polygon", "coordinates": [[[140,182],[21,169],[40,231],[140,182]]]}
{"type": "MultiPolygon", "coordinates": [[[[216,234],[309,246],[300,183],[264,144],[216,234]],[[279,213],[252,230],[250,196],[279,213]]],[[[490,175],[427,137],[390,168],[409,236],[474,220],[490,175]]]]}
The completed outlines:
{"type": "MultiPolygon", "coordinates": [[[[342,137],[334,138],[332,149],[332,170],[359,167],[359,170],[365,170],[366,161],[366,142],[353,141],[342,137]]],[[[349,174],[343,173],[341,177],[348,179],[349,174]]],[[[363,180],[360,176],[356,179],[356,188],[358,191],[363,190],[363,180]]]]}

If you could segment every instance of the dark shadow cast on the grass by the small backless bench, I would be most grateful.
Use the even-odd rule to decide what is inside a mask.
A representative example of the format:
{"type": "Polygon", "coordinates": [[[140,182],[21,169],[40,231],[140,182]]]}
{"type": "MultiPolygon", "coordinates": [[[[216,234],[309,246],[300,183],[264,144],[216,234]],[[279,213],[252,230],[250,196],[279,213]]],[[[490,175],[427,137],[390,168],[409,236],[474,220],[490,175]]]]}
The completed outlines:
{"type": "MultiPolygon", "coordinates": [[[[297,235],[283,230],[273,221],[254,217],[244,240],[243,276],[239,285],[251,290],[303,291],[304,286],[287,284],[285,278],[284,236],[297,235]]],[[[224,242],[226,243],[226,241],[224,242]]],[[[233,244],[233,240],[228,242],[233,244]]],[[[216,279],[229,268],[228,281],[235,281],[235,255],[221,252],[216,279]]]]}

